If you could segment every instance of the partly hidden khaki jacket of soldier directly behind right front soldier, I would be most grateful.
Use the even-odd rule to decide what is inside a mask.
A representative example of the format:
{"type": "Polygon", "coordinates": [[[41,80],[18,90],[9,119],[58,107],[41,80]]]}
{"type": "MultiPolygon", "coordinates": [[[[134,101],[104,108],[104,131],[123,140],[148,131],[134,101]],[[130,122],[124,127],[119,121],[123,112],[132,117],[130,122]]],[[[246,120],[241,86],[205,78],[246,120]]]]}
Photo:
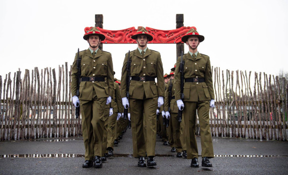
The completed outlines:
{"type": "MultiPolygon", "coordinates": [[[[175,96],[175,87],[174,87],[174,79],[171,80],[172,82],[172,96],[175,96]]],[[[167,84],[167,89],[165,90],[165,100],[164,100],[164,110],[165,111],[168,111],[168,100],[169,100],[169,86],[170,86],[170,80],[168,81],[168,84],[167,84]]],[[[174,99],[171,99],[170,101],[170,111],[169,113],[178,113],[178,106],[177,106],[177,102],[174,99]]]]}

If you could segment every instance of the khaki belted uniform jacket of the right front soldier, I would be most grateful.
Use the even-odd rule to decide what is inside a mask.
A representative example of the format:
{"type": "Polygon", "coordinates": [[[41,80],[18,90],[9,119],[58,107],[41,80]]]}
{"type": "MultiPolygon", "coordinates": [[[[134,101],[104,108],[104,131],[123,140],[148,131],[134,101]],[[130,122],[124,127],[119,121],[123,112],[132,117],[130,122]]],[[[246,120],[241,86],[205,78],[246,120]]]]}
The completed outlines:
{"type": "MultiPolygon", "coordinates": [[[[205,54],[198,52],[196,59],[188,53],[183,55],[184,78],[198,77],[204,78],[205,82],[185,82],[184,81],[184,99],[183,101],[204,101],[214,99],[214,90],[211,75],[210,58],[205,54]]],[[[175,100],[180,98],[180,62],[178,57],[175,68],[175,100]]]]}

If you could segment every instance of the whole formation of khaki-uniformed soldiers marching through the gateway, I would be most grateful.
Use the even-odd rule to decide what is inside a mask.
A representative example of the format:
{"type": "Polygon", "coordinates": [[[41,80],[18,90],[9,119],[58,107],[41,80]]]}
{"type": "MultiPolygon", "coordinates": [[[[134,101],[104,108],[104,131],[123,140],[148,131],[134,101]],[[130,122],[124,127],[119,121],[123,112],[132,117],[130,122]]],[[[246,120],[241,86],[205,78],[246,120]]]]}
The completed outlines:
{"type": "Polygon", "coordinates": [[[76,107],[80,106],[82,115],[85,145],[82,167],[102,167],[102,161],[113,156],[114,145],[128,125],[132,128],[133,156],[138,157],[139,167],[157,165],[156,134],[177,157],[192,159],[190,166],[199,167],[196,112],[201,132],[201,165],[211,167],[209,158],[214,156],[209,127],[209,107],[214,107],[211,66],[209,56],[197,50],[204,36],[191,27],[182,37],[189,51],[178,57],[169,74],[164,74],[160,53],[147,47],[153,36],[144,27],[139,28],[131,36],[138,46],[125,54],[121,80],[114,79],[111,53],[99,49],[105,35],[97,27],[91,27],[83,38],[89,48],[76,54],[71,83],[72,101],[76,107]]]}

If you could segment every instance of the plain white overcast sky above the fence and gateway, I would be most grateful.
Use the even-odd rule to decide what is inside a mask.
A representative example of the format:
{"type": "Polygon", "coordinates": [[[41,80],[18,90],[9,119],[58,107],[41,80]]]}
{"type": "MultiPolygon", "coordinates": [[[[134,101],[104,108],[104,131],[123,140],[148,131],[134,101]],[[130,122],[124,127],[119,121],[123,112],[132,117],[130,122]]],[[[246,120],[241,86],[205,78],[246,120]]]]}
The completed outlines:
{"type": "MultiPolygon", "coordinates": [[[[103,14],[105,29],[168,30],[175,29],[177,13],[184,14],[184,26],[196,26],[205,36],[198,51],[209,55],[214,67],[274,75],[288,71],[288,0],[1,0],[0,75],[72,64],[78,47],[89,46],[84,28],[95,25],[95,14],[103,14]]],[[[121,76],[125,53],[136,47],[103,44],[112,53],[115,77],[121,76]]],[[[168,73],[176,44],[148,47],[161,53],[168,73]]]]}

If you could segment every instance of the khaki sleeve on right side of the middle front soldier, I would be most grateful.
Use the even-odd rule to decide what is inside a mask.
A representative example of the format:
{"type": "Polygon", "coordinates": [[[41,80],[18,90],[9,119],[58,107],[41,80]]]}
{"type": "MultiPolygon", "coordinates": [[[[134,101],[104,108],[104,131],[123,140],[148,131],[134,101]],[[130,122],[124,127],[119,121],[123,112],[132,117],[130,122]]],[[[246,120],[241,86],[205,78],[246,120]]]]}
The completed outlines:
{"type": "Polygon", "coordinates": [[[164,76],[163,76],[163,64],[161,60],[161,55],[158,52],[157,56],[157,88],[158,88],[158,96],[164,96],[164,76]]]}

